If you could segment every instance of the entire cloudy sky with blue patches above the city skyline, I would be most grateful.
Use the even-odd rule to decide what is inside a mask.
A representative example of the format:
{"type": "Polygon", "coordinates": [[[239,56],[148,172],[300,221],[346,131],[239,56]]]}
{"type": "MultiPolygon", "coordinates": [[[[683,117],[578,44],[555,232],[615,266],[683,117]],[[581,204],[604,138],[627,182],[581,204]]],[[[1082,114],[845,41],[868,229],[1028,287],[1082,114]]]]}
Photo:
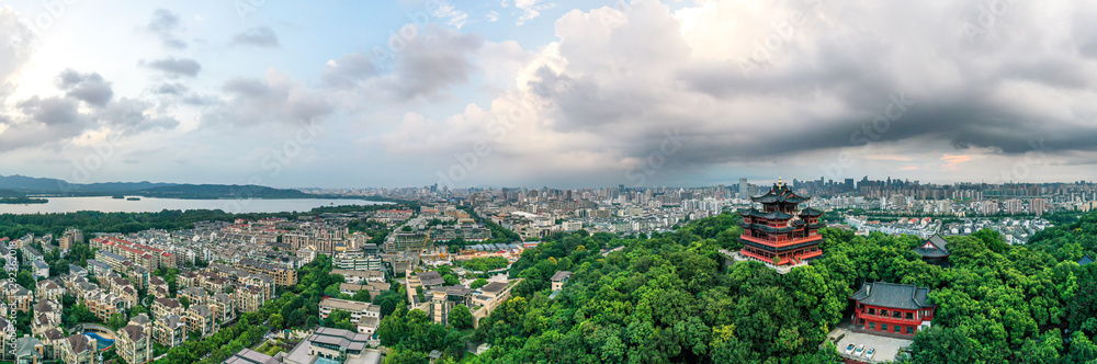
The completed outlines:
{"type": "Polygon", "coordinates": [[[0,0],[0,174],[1076,181],[1093,1],[0,0]]]}

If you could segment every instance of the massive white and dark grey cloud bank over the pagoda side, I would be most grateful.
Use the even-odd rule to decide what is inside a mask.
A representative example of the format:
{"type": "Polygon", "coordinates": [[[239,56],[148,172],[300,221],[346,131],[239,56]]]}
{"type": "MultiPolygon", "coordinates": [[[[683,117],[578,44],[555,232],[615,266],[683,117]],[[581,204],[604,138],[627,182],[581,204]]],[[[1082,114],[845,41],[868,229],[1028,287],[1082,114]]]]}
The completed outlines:
{"type": "MultiPolygon", "coordinates": [[[[960,7],[960,22],[906,8],[868,10],[866,18],[859,8],[824,7],[829,22],[805,21],[792,44],[768,49],[757,64],[747,58],[759,44],[749,37],[740,43],[740,60],[683,60],[621,42],[642,38],[630,32],[648,25],[634,22],[646,10],[603,44],[598,29],[569,23],[576,30],[563,32],[562,21],[567,66],[541,67],[528,87],[550,105],[554,130],[603,136],[601,145],[622,157],[646,156],[668,130],[688,137],[668,164],[774,160],[911,140],[954,149],[938,152],[1097,150],[1097,106],[1086,102],[1097,80],[1094,59],[1076,56],[1097,44],[1097,33],[1076,30],[1068,42],[1049,46],[1021,31],[1041,24],[1010,19],[1015,23],[1002,20],[991,30],[1009,37],[972,43],[960,30],[964,16],[977,19],[977,7],[960,7]],[[907,18],[934,21],[917,25],[907,18]],[[842,19],[868,19],[860,26],[874,31],[850,32],[837,26],[849,23],[842,19]]],[[[1020,12],[1010,15],[1024,18],[1020,12]]],[[[661,21],[653,16],[652,23],[661,21]]],[[[1078,26],[1097,29],[1085,24],[1078,26]]]]}

